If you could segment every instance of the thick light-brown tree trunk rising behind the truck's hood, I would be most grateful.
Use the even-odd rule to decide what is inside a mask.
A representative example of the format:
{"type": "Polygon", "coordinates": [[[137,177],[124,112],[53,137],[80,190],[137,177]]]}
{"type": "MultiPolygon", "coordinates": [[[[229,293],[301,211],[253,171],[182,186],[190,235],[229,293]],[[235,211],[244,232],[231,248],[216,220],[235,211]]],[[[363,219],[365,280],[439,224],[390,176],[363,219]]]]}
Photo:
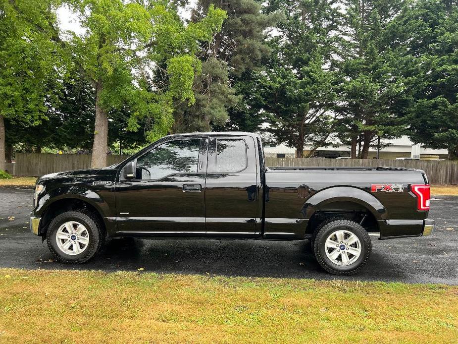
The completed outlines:
{"type": "Polygon", "coordinates": [[[92,146],[91,168],[97,169],[106,166],[108,151],[108,116],[100,107],[100,93],[102,87],[96,86],[96,123],[94,126],[94,144],[92,146]]]}

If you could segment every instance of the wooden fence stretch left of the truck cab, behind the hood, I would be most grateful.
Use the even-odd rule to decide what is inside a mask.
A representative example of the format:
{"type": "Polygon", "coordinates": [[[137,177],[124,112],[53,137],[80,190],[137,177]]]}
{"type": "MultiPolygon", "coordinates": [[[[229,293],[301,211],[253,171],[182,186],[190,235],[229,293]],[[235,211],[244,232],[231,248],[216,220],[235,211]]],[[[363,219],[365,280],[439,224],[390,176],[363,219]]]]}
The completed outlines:
{"type": "MultiPolygon", "coordinates": [[[[89,169],[91,154],[16,153],[16,175],[40,176],[47,173],[89,169]]],[[[127,155],[107,155],[108,166],[126,159],[127,155]]]]}

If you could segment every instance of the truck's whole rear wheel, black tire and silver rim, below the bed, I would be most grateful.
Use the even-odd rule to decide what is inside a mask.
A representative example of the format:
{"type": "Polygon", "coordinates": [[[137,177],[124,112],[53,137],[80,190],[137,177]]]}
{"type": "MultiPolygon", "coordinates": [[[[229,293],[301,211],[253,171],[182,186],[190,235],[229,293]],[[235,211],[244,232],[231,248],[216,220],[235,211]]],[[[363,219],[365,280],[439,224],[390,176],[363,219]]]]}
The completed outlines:
{"type": "Polygon", "coordinates": [[[321,267],[334,275],[352,275],[369,258],[372,243],[366,230],[351,220],[326,222],[317,230],[313,251],[321,267]]]}

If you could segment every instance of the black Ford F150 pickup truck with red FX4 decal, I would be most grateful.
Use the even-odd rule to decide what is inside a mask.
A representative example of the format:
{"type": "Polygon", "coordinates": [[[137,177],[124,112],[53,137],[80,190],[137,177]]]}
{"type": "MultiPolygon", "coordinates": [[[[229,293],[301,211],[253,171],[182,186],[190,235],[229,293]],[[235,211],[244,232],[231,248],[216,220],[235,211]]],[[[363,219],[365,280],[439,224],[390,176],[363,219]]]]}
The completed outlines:
{"type": "Polygon", "coordinates": [[[348,275],[369,258],[369,233],[431,234],[429,198],[420,170],[267,168],[257,134],[177,134],[117,165],[42,176],[30,228],[65,263],[107,236],[308,239],[326,271],[348,275]]]}

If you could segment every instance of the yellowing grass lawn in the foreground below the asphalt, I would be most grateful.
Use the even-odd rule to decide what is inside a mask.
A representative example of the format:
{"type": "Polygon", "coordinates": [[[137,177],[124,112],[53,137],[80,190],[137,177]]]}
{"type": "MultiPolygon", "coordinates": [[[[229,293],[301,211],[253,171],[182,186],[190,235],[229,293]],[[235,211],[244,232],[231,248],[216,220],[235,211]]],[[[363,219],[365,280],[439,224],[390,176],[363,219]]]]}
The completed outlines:
{"type": "Polygon", "coordinates": [[[457,343],[458,287],[0,269],[2,343],[457,343]]]}

